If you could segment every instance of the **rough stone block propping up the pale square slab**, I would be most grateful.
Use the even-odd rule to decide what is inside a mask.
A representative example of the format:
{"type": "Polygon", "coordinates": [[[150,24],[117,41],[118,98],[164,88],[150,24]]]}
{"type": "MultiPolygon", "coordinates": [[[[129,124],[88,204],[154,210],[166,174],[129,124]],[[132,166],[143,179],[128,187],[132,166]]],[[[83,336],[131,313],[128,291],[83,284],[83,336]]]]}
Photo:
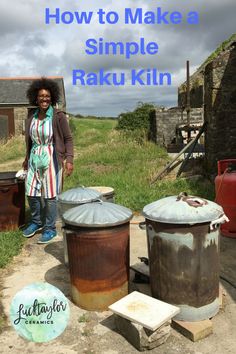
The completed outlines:
{"type": "Polygon", "coordinates": [[[170,322],[166,322],[155,331],[151,331],[138,323],[115,315],[117,331],[139,351],[149,350],[165,343],[170,335],[170,322]]]}

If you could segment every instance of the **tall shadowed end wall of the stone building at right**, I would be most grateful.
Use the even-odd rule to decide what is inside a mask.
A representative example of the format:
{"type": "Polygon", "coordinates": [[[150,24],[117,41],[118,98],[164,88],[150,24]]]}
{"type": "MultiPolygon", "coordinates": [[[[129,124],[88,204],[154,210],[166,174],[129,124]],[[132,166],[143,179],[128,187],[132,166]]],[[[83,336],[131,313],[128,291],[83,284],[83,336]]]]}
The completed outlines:
{"type": "Polygon", "coordinates": [[[236,158],[236,43],[205,69],[206,166],[216,174],[217,160],[236,158]]]}

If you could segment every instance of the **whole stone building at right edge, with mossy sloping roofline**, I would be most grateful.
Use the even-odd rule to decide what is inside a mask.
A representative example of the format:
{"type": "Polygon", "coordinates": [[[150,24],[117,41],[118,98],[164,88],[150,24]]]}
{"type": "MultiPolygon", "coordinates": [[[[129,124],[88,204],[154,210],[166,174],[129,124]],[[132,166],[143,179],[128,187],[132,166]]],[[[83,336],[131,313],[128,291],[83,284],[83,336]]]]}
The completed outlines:
{"type": "MultiPolygon", "coordinates": [[[[186,83],[179,87],[185,106],[186,83]]],[[[236,159],[236,34],[231,36],[190,78],[191,107],[204,107],[205,162],[216,174],[217,161],[236,159]]]]}

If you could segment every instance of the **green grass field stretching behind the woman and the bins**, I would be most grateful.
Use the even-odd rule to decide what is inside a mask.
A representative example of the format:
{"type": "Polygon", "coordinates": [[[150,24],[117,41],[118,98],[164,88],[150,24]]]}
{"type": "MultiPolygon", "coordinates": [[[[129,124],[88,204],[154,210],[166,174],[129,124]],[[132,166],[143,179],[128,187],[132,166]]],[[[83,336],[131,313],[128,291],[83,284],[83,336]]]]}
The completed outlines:
{"type": "MultiPolygon", "coordinates": [[[[64,190],[79,185],[108,186],[115,190],[115,201],[134,212],[159,198],[181,191],[213,199],[209,182],[185,179],[161,180],[150,186],[153,177],[168,162],[166,151],[154,143],[123,135],[115,130],[116,121],[73,119],[75,163],[72,176],[65,178],[64,190]],[[140,141],[142,143],[140,143],[140,141]]],[[[23,138],[13,138],[0,147],[0,163],[23,157],[23,138]]],[[[20,252],[24,239],[20,232],[0,233],[0,267],[20,252]]]]}

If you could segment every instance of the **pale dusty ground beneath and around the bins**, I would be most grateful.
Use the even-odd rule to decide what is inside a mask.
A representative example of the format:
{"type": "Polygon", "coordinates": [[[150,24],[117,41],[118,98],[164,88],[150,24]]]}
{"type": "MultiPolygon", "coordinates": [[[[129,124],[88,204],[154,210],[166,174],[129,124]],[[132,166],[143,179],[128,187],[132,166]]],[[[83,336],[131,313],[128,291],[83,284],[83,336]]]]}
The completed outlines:
{"type": "MultiPolygon", "coordinates": [[[[139,218],[137,221],[143,221],[143,218],[139,218]]],[[[60,231],[59,228],[58,231],[60,231]]],[[[62,235],[45,246],[37,244],[38,236],[26,240],[21,254],[14,258],[7,269],[0,271],[1,300],[5,313],[4,332],[0,333],[1,353],[137,353],[137,350],[117,333],[114,316],[110,311],[86,311],[71,301],[70,275],[69,269],[64,264],[62,235]],[[13,296],[24,286],[36,281],[46,281],[56,286],[70,302],[71,318],[68,327],[59,337],[48,343],[34,343],[24,340],[9,322],[9,306],[13,296]]],[[[138,223],[133,223],[130,228],[130,236],[130,264],[134,264],[137,262],[138,256],[147,255],[146,233],[139,229],[138,223]]],[[[222,240],[221,254],[224,275],[233,282],[235,281],[235,278],[232,278],[232,275],[235,274],[234,241],[226,238],[222,240]]],[[[135,284],[138,291],[145,293],[144,285],[149,287],[148,284],[135,284]]],[[[226,282],[224,282],[224,286],[227,290],[225,292],[225,308],[213,318],[213,334],[211,336],[192,343],[171,329],[171,336],[165,344],[145,353],[208,354],[214,352],[214,354],[233,354],[235,352],[236,290],[226,282]]],[[[0,311],[2,311],[2,307],[0,311]]]]}

